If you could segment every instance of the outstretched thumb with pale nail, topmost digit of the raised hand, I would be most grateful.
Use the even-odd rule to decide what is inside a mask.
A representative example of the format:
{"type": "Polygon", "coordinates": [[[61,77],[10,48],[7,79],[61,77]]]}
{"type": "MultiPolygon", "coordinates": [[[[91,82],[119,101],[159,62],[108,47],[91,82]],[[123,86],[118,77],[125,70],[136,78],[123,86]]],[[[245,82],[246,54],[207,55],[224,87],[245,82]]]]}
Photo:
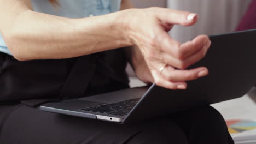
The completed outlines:
{"type": "Polygon", "coordinates": [[[162,9],[159,13],[156,13],[156,15],[162,22],[182,26],[194,25],[198,19],[197,14],[167,8],[162,9]]]}

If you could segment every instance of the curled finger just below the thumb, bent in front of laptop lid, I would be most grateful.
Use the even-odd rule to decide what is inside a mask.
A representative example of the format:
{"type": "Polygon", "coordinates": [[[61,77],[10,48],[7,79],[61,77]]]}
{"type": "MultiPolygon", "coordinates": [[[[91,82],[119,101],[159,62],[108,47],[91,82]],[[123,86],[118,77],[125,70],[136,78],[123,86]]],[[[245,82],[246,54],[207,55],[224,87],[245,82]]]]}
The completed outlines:
{"type": "Polygon", "coordinates": [[[179,47],[179,52],[181,53],[179,56],[176,57],[181,60],[193,55],[197,51],[203,49],[205,46],[209,48],[208,44],[210,43],[210,39],[207,35],[199,35],[192,41],[188,41],[187,43],[181,44],[179,47]]]}

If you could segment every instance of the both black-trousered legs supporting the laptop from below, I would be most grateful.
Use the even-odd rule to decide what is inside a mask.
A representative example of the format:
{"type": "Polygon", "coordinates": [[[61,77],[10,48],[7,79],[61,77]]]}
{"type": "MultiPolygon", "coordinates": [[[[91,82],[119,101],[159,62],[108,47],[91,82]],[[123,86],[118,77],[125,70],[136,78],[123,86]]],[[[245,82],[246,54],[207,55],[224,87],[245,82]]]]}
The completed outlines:
{"type": "Polygon", "coordinates": [[[234,143],[211,106],[122,125],[56,113],[24,104],[0,106],[0,143],[234,143]],[[5,114],[3,114],[5,113],[5,114]]]}

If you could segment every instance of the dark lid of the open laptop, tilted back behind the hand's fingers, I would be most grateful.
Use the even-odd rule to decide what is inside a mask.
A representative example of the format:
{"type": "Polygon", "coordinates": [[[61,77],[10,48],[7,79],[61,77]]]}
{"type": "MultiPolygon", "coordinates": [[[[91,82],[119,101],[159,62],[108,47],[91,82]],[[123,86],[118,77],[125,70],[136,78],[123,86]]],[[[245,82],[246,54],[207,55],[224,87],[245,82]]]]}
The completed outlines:
{"type": "Polygon", "coordinates": [[[212,45],[200,62],[210,74],[189,81],[186,90],[170,90],[155,84],[126,116],[123,123],[177,113],[235,99],[245,95],[256,83],[256,29],[210,36],[212,45]]]}

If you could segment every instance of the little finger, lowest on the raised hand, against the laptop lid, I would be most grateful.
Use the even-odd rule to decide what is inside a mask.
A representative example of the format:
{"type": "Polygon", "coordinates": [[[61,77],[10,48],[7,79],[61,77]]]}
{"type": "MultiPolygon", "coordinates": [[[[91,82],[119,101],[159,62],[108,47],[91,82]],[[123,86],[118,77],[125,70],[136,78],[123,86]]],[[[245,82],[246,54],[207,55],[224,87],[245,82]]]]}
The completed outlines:
{"type": "Polygon", "coordinates": [[[186,89],[187,83],[185,82],[170,82],[160,75],[156,70],[152,70],[152,76],[154,77],[155,84],[167,89],[186,89]]]}

